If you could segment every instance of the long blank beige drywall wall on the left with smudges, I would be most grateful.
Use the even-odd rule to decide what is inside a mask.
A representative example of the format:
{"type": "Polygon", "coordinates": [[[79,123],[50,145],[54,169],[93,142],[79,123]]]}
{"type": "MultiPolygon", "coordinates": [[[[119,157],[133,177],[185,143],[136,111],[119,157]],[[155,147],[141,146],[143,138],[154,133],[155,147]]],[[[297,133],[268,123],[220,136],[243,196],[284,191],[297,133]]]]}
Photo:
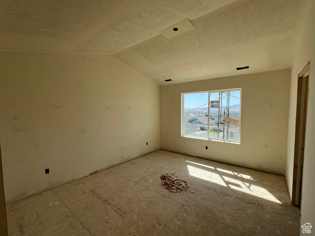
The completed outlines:
{"type": "Polygon", "coordinates": [[[114,56],[0,52],[0,71],[7,203],[160,148],[159,87],[114,56]]]}

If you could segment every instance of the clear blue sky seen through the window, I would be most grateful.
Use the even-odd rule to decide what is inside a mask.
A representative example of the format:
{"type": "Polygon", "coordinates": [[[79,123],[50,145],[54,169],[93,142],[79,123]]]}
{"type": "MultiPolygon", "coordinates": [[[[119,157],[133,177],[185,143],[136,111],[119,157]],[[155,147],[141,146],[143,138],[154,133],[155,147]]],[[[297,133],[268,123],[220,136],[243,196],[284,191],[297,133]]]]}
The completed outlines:
{"type": "MultiPolygon", "coordinates": [[[[240,96],[240,91],[233,91],[231,94],[235,97],[240,96]]],[[[224,96],[225,94],[223,94],[224,96]]],[[[197,108],[203,104],[203,107],[208,107],[208,93],[190,93],[185,94],[185,108],[197,108]],[[204,95],[202,95],[204,94],[204,95]]],[[[210,100],[214,101],[219,98],[219,93],[210,93],[210,100]]],[[[230,106],[239,104],[239,99],[230,96],[230,106]]],[[[222,99],[222,105],[226,106],[226,97],[222,99]]]]}

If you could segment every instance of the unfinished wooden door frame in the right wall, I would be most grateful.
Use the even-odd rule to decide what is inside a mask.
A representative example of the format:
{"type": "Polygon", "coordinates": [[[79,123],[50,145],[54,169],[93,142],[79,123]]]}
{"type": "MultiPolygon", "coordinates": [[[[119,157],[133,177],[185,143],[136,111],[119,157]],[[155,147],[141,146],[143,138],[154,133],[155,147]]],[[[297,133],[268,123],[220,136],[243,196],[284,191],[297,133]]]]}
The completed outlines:
{"type": "Polygon", "coordinates": [[[310,62],[298,75],[291,204],[301,206],[310,62]]]}

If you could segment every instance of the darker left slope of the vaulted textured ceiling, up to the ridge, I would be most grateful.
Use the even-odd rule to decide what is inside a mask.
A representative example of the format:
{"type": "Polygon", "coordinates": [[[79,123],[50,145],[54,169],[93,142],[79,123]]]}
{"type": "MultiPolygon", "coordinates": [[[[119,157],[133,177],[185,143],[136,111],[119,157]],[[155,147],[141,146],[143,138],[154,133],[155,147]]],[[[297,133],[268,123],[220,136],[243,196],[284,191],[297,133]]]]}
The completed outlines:
{"type": "Polygon", "coordinates": [[[0,48],[111,54],[234,1],[2,0],[0,48]]]}

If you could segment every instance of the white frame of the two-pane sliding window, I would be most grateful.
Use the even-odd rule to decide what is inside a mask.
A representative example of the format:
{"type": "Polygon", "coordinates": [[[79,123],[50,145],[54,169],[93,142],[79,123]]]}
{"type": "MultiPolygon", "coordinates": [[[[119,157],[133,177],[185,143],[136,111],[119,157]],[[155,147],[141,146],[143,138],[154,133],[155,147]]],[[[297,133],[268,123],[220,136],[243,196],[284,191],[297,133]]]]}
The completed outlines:
{"type": "Polygon", "coordinates": [[[231,89],[221,89],[221,90],[209,90],[209,91],[196,91],[196,92],[190,92],[190,93],[181,93],[181,128],[180,133],[181,137],[184,138],[197,138],[197,139],[203,139],[203,140],[211,140],[211,141],[219,141],[219,142],[225,142],[225,143],[241,143],[241,110],[242,110],[242,88],[231,88],[231,89]],[[208,138],[201,138],[201,137],[193,137],[193,136],[185,136],[184,135],[184,104],[185,104],[185,94],[192,94],[192,93],[208,93],[208,131],[210,126],[210,93],[224,93],[224,92],[233,92],[233,91],[240,91],[240,99],[239,99],[239,126],[238,126],[238,140],[229,140],[229,139],[221,139],[221,138],[209,138],[209,132],[207,132],[208,138]]]}

